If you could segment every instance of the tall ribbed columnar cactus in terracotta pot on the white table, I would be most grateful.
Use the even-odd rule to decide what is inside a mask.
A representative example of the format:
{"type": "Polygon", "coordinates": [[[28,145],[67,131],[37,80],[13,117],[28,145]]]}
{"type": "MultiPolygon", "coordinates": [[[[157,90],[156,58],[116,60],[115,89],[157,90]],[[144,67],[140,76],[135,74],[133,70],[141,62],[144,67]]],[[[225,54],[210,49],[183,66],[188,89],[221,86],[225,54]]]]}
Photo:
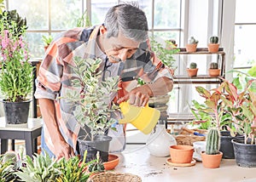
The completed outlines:
{"type": "Polygon", "coordinates": [[[219,151],[220,134],[218,128],[211,128],[207,133],[206,151],[201,152],[202,164],[205,168],[218,168],[223,153],[219,151]]]}

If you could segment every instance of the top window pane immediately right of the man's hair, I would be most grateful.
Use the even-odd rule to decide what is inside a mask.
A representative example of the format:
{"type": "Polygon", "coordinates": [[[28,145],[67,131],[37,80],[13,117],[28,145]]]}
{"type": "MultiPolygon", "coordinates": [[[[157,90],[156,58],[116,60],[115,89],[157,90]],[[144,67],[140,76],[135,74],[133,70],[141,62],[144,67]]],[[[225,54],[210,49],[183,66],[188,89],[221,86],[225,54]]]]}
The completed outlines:
{"type": "Polygon", "coordinates": [[[155,0],[154,1],[154,28],[180,27],[180,1],[155,0]]]}

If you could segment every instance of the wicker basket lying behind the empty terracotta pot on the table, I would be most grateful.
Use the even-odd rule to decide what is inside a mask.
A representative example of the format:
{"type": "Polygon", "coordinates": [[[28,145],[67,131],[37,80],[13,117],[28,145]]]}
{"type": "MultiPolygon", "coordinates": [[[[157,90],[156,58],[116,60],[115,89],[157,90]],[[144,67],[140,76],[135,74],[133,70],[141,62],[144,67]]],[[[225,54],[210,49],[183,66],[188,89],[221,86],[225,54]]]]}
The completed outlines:
{"type": "MultiPolygon", "coordinates": [[[[192,130],[199,134],[207,134],[207,129],[195,128],[192,130]]],[[[175,139],[177,141],[177,145],[193,145],[195,141],[205,141],[206,136],[197,136],[182,129],[180,134],[175,136],[175,139]]]]}

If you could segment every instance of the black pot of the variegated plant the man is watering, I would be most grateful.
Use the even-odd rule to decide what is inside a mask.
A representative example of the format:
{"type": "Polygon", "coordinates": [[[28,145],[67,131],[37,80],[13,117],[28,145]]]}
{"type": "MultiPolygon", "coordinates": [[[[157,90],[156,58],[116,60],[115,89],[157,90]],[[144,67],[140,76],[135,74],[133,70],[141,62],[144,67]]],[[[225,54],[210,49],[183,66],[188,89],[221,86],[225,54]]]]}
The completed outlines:
{"type": "Polygon", "coordinates": [[[84,151],[87,150],[85,162],[90,162],[96,159],[97,151],[100,151],[100,159],[102,162],[108,162],[109,142],[112,137],[107,135],[97,135],[94,140],[85,140],[84,136],[78,138],[79,153],[81,159],[84,158],[84,151]]]}

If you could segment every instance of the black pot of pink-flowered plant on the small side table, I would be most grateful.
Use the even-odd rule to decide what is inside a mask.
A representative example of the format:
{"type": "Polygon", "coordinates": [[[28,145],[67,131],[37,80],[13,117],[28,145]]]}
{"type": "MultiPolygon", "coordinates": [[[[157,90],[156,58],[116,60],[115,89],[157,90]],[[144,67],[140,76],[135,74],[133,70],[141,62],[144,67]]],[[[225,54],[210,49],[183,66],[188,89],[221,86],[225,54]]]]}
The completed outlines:
{"type": "Polygon", "coordinates": [[[27,122],[29,105],[31,100],[23,102],[9,102],[3,100],[5,121],[8,124],[22,124],[27,122]]]}

